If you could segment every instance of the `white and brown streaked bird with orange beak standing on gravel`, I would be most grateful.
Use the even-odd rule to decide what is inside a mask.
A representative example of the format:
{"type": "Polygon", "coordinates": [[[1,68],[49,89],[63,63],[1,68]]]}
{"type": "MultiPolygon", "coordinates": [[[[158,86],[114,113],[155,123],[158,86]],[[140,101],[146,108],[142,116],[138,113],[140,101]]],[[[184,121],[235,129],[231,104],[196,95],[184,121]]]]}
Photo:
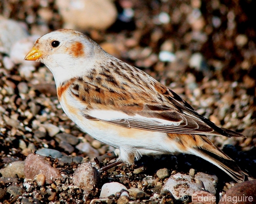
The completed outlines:
{"type": "Polygon", "coordinates": [[[172,89],[106,53],[87,35],[59,29],[38,38],[25,60],[52,72],[66,115],[96,140],[118,148],[118,161],[186,153],[216,165],[236,182],[248,175],[207,136],[244,137],[198,114],[172,89]]]}

